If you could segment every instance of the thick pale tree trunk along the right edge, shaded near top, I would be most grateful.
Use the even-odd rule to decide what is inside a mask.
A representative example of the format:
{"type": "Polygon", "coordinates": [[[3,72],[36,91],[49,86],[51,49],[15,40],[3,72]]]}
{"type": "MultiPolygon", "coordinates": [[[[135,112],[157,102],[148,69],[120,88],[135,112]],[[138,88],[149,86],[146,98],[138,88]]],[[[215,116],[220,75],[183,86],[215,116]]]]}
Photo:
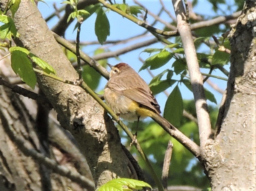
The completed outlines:
{"type": "Polygon", "coordinates": [[[205,163],[213,191],[256,189],[256,4],[246,1],[230,33],[231,67],[222,124],[205,163]]]}

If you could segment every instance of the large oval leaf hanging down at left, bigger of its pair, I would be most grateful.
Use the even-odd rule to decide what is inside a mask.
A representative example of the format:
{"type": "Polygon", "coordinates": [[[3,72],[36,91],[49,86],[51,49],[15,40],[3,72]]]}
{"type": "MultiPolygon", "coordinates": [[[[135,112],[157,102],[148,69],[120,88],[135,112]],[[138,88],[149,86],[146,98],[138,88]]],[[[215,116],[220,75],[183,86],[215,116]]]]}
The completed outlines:
{"type": "Polygon", "coordinates": [[[26,53],[20,50],[12,51],[11,66],[13,71],[20,76],[23,82],[29,85],[32,89],[35,88],[35,72],[26,53]]]}

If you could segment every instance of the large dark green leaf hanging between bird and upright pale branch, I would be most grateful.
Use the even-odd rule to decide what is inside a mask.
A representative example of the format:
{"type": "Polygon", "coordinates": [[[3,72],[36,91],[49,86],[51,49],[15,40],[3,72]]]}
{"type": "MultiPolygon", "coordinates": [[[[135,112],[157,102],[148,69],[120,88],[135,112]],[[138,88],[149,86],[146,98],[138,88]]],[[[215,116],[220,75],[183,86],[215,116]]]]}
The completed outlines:
{"type": "Polygon", "coordinates": [[[183,116],[183,100],[178,85],[173,89],[168,96],[165,109],[164,118],[167,119],[174,126],[181,125],[183,116]]]}

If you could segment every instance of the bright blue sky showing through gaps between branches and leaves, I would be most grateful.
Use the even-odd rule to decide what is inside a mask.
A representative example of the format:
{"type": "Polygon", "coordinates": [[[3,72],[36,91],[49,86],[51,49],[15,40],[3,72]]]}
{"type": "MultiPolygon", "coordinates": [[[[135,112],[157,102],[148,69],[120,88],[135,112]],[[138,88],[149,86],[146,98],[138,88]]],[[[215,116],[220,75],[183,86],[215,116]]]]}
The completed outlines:
{"type": "MultiPolygon", "coordinates": [[[[53,2],[56,3],[57,7],[61,7],[63,5],[61,5],[60,3],[62,1],[49,1],[46,0],[45,1],[49,7],[47,5],[45,5],[44,3],[39,2],[38,8],[40,9],[40,12],[42,13],[43,18],[46,18],[48,15],[50,15],[51,13],[54,12],[53,9],[53,2]]],[[[117,0],[117,3],[122,3],[121,0],[117,0]],[[119,2],[120,1],[120,2],[119,2]]],[[[161,8],[161,5],[159,3],[159,1],[154,1],[154,0],[141,0],[140,1],[143,5],[145,5],[147,7],[148,10],[150,10],[151,12],[154,12],[155,14],[158,13],[158,11],[161,8]]],[[[230,1],[233,2],[233,1],[230,1]]],[[[126,3],[128,3],[129,5],[133,4],[132,1],[126,1],[126,3]]],[[[166,7],[169,7],[169,10],[173,13],[173,7],[171,4],[171,1],[164,1],[166,7]]],[[[212,6],[210,5],[210,3],[208,3],[207,1],[203,1],[203,0],[199,0],[198,6],[194,7],[194,12],[196,13],[201,13],[201,14],[205,14],[208,16],[212,16],[215,15],[215,13],[212,11],[212,6]]],[[[232,11],[227,11],[226,14],[232,14],[232,11]]],[[[174,15],[174,14],[173,14],[174,15]]],[[[132,37],[134,35],[143,33],[145,31],[144,28],[136,25],[135,23],[132,23],[131,21],[127,20],[126,18],[123,18],[122,16],[114,13],[114,12],[109,12],[107,13],[107,17],[109,19],[110,22],[110,36],[107,38],[107,40],[117,40],[117,39],[126,39],[128,37],[132,37]]],[[[168,18],[167,14],[162,14],[160,16],[162,19],[166,20],[166,21],[171,21],[170,18],[168,18]]],[[[93,14],[89,19],[87,19],[83,24],[82,24],[82,28],[81,28],[81,41],[96,41],[97,37],[94,33],[94,22],[96,19],[96,14],[93,14]]],[[[58,19],[57,17],[55,17],[54,19],[52,19],[50,22],[48,22],[48,26],[49,28],[52,28],[56,23],[57,23],[58,19]]],[[[152,22],[152,18],[148,17],[147,21],[149,23],[152,22]]],[[[65,37],[67,39],[75,39],[76,33],[73,33],[73,28],[74,28],[75,22],[73,22],[70,27],[68,28],[68,30],[66,31],[66,35],[65,37]]],[[[163,25],[162,24],[157,24],[156,25],[157,28],[162,28],[163,25]]],[[[153,37],[148,37],[148,39],[152,39],[153,37]]],[[[139,40],[138,40],[139,41],[139,40]]],[[[128,43],[126,45],[120,45],[118,47],[109,47],[109,49],[111,51],[114,51],[116,49],[119,49],[121,47],[125,47],[128,45],[131,45],[133,43],[136,43],[134,41],[132,41],[132,43],[128,43]]],[[[85,47],[83,50],[89,54],[90,56],[93,55],[95,49],[99,47],[99,45],[94,45],[94,46],[87,46],[85,47]]],[[[154,48],[163,48],[164,45],[162,45],[161,43],[156,43],[154,45],[150,45],[149,47],[154,47],[154,48]]],[[[149,55],[147,53],[141,53],[141,51],[143,51],[146,47],[141,48],[141,49],[137,49],[135,51],[132,51],[130,53],[124,54],[119,56],[120,60],[116,60],[114,58],[111,58],[108,60],[109,63],[111,63],[112,65],[115,65],[119,62],[126,62],[128,64],[130,64],[132,66],[132,68],[134,68],[136,71],[139,70],[139,68],[141,67],[142,63],[138,60],[138,57],[141,56],[143,59],[146,59],[149,55]]],[[[208,51],[208,49],[204,49],[203,47],[200,49],[201,52],[203,51],[208,51]]],[[[171,63],[172,60],[169,62],[171,63]]],[[[157,70],[153,70],[152,72],[154,73],[154,75],[159,74],[160,72],[162,72],[164,69],[166,68],[170,68],[170,64],[166,64],[164,67],[161,67],[157,70]]],[[[225,66],[225,68],[227,70],[229,70],[229,66],[225,66]]],[[[202,70],[202,72],[208,72],[208,70],[202,70]]],[[[148,74],[148,72],[146,70],[143,70],[139,73],[142,78],[149,83],[151,81],[151,77],[148,74]]],[[[223,75],[221,72],[219,71],[214,71],[212,73],[213,75],[221,75],[222,77],[225,77],[225,75],[223,75]]],[[[221,87],[222,89],[226,88],[226,81],[223,80],[218,80],[218,79],[214,79],[214,78],[210,78],[214,83],[218,84],[219,87],[221,87]]],[[[98,91],[100,91],[101,89],[103,89],[104,84],[106,83],[105,79],[101,80],[100,83],[100,87],[98,88],[98,91]]],[[[167,91],[170,93],[172,91],[172,89],[175,86],[167,89],[167,91]]],[[[205,83],[205,87],[207,89],[209,89],[212,93],[214,93],[216,100],[218,103],[220,103],[222,95],[220,93],[218,93],[217,91],[215,91],[214,89],[212,89],[208,84],[205,83]]],[[[193,99],[193,94],[192,92],[190,92],[186,87],[184,86],[180,86],[180,90],[182,93],[182,97],[184,99],[193,99]]],[[[161,110],[163,110],[164,106],[165,106],[165,102],[167,97],[163,94],[160,93],[156,96],[160,106],[161,106],[161,110]]],[[[209,102],[210,104],[214,104],[212,102],[209,102]]]]}

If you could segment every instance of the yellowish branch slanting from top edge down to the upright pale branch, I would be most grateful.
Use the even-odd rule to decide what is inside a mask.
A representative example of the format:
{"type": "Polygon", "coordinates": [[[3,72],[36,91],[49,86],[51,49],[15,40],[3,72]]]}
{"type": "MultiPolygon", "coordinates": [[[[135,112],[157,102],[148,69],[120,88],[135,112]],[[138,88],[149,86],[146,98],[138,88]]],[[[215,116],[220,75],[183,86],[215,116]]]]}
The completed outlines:
{"type": "Polygon", "coordinates": [[[177,31],[165,31],[165,30],[160,30],[158,28],[154,28],[148,24],[146,24],[143,20],[140,20],[134,16],[131,16],[129,14],[127,14],[126,12],[123,12],[122,10],[116,8],[115,6],[107,3],[104,0],[98,0],[100,3],[102,3],[105,7],[111,9],[112,11],[118,13],[119,15],[122,15],[123,17],[129,19],[130,21],[138,24],[139,26],[146,28],[147,30],[149,30],[150,32],[153,33],[157,33],[159,35],[163,35],[163,36],[168,36],[168,37],[175,37],[178,36],[179,34],[177,33],[177,31]]]}

